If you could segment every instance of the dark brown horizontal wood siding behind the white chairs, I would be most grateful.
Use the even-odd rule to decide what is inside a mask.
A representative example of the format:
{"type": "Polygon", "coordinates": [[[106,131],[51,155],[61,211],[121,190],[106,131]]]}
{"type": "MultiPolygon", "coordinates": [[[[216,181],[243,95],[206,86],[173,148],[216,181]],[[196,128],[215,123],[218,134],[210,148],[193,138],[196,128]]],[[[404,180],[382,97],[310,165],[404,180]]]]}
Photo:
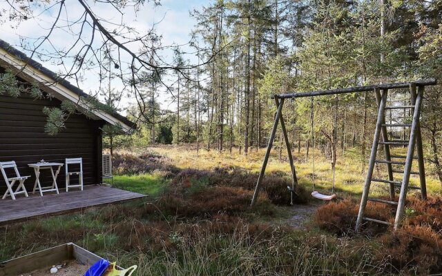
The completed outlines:
{"type": "MultiPolygon", "coordinates": [[[[16,161],[22,176],[32,176],[26,181],[28,191],[32,190],[35,181],[34,171],[28,164],[41,159],[64,164],[66,158],[83,157],[84,184],[102,181],[102,137],[99,128],[104,121],[72,115],[66,121],[66,128],[58,135],[50,136],[44,130],[46,116],[42,110],[45,106],[59,107],[60,104],[57,99],[0,95],[0,161],[16,161]]],[[[65,186],[64,172],[62,167],[57,178],[59,188],[65,186]]],[[[49,170],[41,171],[43,185],[50,184],[51,179],[49,170]]],[[[5,190],[6,185],[0,175],[1,196],[5,190]]]]}

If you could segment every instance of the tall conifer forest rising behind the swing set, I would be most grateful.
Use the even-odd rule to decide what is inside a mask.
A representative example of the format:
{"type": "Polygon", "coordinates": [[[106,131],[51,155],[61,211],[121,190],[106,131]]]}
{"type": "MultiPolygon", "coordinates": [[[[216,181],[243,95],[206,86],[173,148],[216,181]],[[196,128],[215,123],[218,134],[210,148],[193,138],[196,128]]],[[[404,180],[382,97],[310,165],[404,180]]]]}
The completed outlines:
{"type": "MultiPolygon", "coordinates": [[[[142,81],[144,110],[135,105],[129,112],[140,118],[141,128],[130,138],[115,137],[112,147],[194,143],[197,151],[238,150],[247,155],[267,146],[276,112],[271,95],[438,79],[441,13],[440,1],[210,3],[191,12],[198,22],[191,35],[198,41],[192,44],[198,58],[213,60],[172,77],[172,109],[158,102],[155,77],[142,81]]],[[[180,48],[174,60],[189,62],[180,48]]],[[[373,94],[314,100],[314,137],[324,154],[331,155],[331,143],[343,151],[358,146],[364,170],[376,119],[373,94]],[[336,141],[327,139],[335,136],[332,132],[336,141]]],[[[392,92],[389,101],[407,103],[410,97],[406,90],[392,92]]],[[[440,85],[427,88],[421,119],[426,161],[440,181],[441,101],[440,85]]],[[[390,111],[387,119],[404,122],[405,115],[390,111]]],[[[308,155],[311,100],[286,103],[284,116],[292,147],[306,147],[308,155]]],[[[389,130],[396,137],[407,137],[408,131],[389,130]]],[[[282,148],[281,132],[278,145],[282,148]]]]}

